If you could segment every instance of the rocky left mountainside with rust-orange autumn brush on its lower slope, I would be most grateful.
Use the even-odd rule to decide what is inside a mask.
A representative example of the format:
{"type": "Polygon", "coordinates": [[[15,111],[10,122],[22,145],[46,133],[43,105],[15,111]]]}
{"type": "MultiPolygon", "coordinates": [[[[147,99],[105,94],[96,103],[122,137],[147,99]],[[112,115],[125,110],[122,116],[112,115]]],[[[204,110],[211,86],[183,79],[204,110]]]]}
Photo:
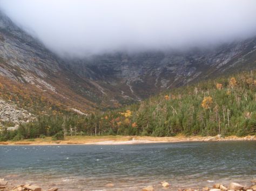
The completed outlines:
{"type": "Polygon", "coordinates": [[[112,104],[100,100],[101,91],[62,62],[0,12],[0,97],[3,100],[33,114],[49,110],[82,114],[112,104]]]}

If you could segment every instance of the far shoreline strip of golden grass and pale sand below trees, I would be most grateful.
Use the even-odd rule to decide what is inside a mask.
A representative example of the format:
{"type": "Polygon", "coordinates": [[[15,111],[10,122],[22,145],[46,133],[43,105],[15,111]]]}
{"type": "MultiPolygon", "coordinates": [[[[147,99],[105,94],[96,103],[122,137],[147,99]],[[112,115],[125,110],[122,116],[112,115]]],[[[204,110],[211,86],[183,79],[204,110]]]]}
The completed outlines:
{"type": "Polygon", "coordinates": [[[24,139],[17,142],[0,142],[2,145],[135,145],[135,144],[154,144],[154,143],[185,143],[185,142],[226,142],[226,141],[256,141],[256,136],[246,137],[214,137],[201,136],[176,136],[176,137],[142,137],[142,136],[73,136],[66,137],[64,140],[51,140],[51,137],[45,139],[24,139]]]}

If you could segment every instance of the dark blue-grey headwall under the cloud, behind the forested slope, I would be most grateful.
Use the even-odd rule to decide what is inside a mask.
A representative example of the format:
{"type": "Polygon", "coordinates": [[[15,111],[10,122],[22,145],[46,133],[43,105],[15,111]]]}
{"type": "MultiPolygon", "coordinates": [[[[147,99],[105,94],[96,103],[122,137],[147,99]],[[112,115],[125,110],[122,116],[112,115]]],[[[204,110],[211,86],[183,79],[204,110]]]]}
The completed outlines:
{"type": "Polygon", "coordinates": [[[141,100],[159,91],[184,86],[235,70],[255,68],[256,38],[186,52],[115,53],[69,61],[80,77],[90,77],[103,92],[141,100]]]}

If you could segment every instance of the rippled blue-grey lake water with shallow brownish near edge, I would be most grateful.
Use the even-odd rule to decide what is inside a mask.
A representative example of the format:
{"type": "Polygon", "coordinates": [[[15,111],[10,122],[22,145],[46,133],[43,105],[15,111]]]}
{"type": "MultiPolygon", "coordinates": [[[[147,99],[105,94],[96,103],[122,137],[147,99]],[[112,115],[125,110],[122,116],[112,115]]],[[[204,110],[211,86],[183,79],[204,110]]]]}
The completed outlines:
{"type": "Polygon", "coordinates": [[[248,183],[256,178],[256,142],[0,146],[0,177],[62,190],[248,183]]]}

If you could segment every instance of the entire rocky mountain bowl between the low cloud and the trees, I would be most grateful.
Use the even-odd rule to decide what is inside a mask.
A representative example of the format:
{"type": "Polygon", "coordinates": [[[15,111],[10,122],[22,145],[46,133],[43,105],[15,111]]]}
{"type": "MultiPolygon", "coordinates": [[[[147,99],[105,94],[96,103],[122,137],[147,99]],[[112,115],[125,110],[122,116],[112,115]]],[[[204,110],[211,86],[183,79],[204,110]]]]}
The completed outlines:
{"type": "Polygon", "coordinates": [[[118,108],[174,87],[255,68],[255,61],[256,38],[186,51],[60,58],[0,13],[0,107],[12,105],[25,118],[29,113],[86,115],[118,108]]]}

